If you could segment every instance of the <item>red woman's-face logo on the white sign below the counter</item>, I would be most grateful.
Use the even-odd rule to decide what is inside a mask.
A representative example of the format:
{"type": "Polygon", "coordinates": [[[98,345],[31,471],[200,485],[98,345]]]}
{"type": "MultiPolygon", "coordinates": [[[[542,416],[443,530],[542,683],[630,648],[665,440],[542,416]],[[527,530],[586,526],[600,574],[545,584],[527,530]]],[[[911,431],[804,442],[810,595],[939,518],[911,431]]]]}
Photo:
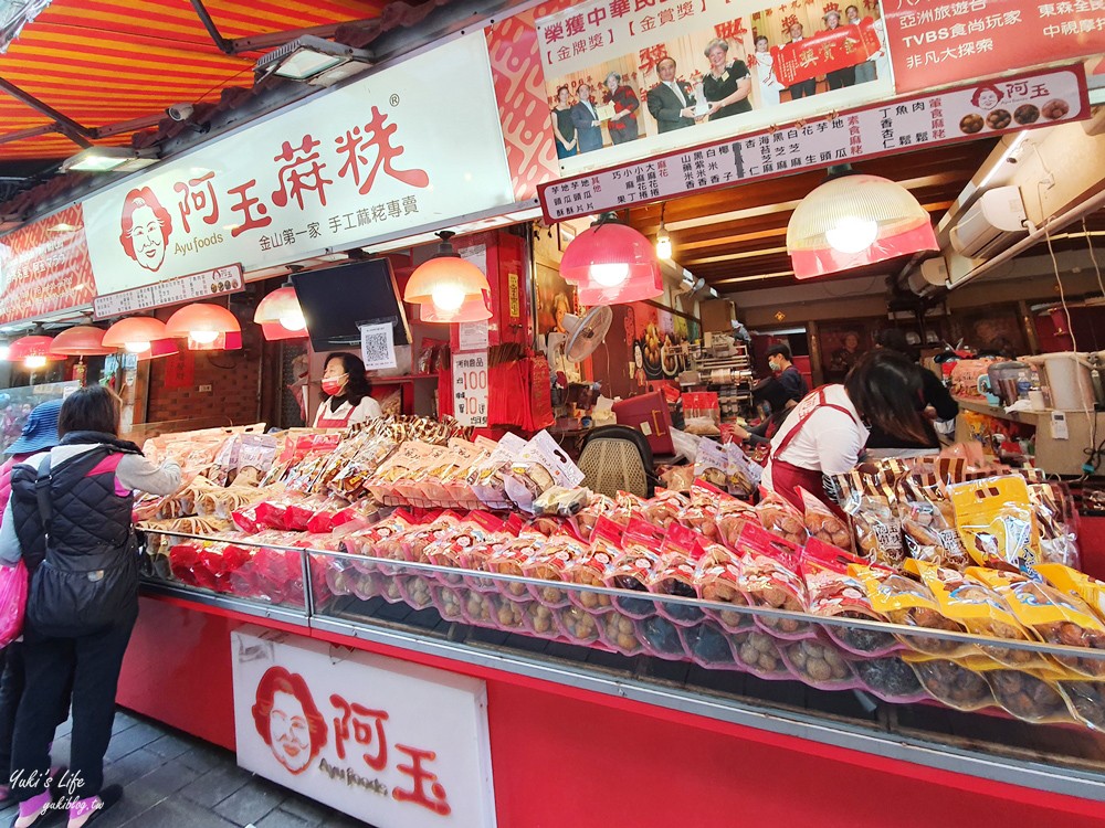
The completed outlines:
{"type": "Polygon", "coordinates": [[[307,682],[283,667],[270,667],[261,677],[252,713],[273,756],[293,774],[306,771],[326,744],[326,720],[307,682]]]}

